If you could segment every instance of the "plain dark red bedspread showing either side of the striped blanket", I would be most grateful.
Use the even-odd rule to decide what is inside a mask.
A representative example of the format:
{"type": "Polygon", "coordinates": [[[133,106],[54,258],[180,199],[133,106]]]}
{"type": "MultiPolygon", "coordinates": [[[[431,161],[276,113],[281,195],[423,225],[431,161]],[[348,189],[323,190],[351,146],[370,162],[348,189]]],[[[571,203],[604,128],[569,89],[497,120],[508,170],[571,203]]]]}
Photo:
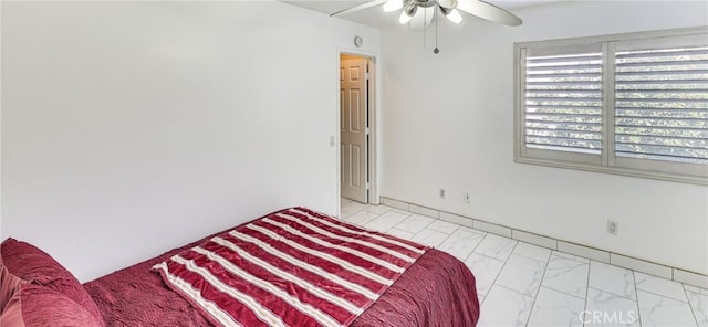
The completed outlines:
{"type": "MultiPolygon", "coordinates": [[[[212,326],[150,267],[215,235],[86,283],[107,326],[212,326]]],[[[475,277],[464,263],[433,249],[351,326],[461,327],[478,319],[475,277]]]]}

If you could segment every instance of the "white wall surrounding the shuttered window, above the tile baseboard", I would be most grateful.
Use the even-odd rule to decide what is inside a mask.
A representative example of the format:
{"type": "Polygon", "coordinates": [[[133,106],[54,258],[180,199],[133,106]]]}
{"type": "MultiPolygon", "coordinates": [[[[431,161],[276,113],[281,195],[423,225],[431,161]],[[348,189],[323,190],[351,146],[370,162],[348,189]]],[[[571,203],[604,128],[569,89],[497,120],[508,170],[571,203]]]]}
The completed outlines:
{"type": "Polygon", "coordinates": [[[382,31],[382,196],[708,274],[708,188],[513,162],[513,43],[708,24],[705,1],[564,2],[382,31]],[[431,36],[434,34],[429,34],[431,36]],[[438,188],[447,199],[438,199],[438,188]],[[462,202],[462,193],[471,203],[462,202]],[[606,220],[620,235],[605,233],[606,220]]]}

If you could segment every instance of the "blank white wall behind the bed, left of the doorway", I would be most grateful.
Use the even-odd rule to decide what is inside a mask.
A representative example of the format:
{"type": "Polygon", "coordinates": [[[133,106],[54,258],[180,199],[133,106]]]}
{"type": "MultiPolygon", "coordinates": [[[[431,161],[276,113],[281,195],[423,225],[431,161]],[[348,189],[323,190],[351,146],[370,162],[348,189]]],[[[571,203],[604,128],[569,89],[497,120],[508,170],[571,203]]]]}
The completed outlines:
{"type": "Polygon", "coordinates": [[[289,205],[337,210],[339,49],[280,2],[3,2],[2,239],[87,281],[289,205]]]}

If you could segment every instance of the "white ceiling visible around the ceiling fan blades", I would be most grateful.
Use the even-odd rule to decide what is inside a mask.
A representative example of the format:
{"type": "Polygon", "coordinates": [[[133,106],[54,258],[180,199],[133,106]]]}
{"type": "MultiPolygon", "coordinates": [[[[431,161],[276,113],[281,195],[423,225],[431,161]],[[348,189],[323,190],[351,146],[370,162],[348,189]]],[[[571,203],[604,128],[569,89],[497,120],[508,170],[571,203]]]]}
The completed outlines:
{"type": "MultiPolygon", "coordinates": [[[[337,12],[340,10],[344,10],[347,8],[352,8],[354,6],[368,2],[368,0],[319,0],[319,1],[310,1],[310,0],[280,0],[285,3],[290,3],[292,6],[298,6],[302,8],[306,8],[310,10],[319,11],[322,13],[331,14],[337,12]]],[[[461,0],[461,1],[477,1],[477,0],[461,0]]],[[[511,12],[514,9],[525,8],[531,6],[539,6],[550,2],[558,2],[564,0],[488,0],[485,1],[487,3],[491,3],[499,8],[509,10],[511,12]]],[[[365,24],[368,27],[385,29],[392,28],[398,24],[398,15],[399,11],[395,12],[384,12],[381,6],[375,6],[368,9],[360,10],[356,12],[351,12],[346,14],[339,15],[342,19],[351,20],[361,24],[365,24]]],[[[465,17],[465,14],[462,14],[465,17]]],[[[521,18],[523,19],[523,17],[521,18]]]]}

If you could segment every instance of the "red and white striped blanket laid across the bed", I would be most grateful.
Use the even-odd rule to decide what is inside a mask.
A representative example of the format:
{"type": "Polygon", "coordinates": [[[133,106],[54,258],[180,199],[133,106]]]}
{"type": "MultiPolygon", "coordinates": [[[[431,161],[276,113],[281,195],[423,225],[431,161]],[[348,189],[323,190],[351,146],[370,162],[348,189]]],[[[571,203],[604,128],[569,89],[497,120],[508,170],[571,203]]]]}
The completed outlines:
{"type": "Polygon", "coordinates": [[[292,208],[153,270],[217,326],[348,326],[427,250],[292,208]]]}

